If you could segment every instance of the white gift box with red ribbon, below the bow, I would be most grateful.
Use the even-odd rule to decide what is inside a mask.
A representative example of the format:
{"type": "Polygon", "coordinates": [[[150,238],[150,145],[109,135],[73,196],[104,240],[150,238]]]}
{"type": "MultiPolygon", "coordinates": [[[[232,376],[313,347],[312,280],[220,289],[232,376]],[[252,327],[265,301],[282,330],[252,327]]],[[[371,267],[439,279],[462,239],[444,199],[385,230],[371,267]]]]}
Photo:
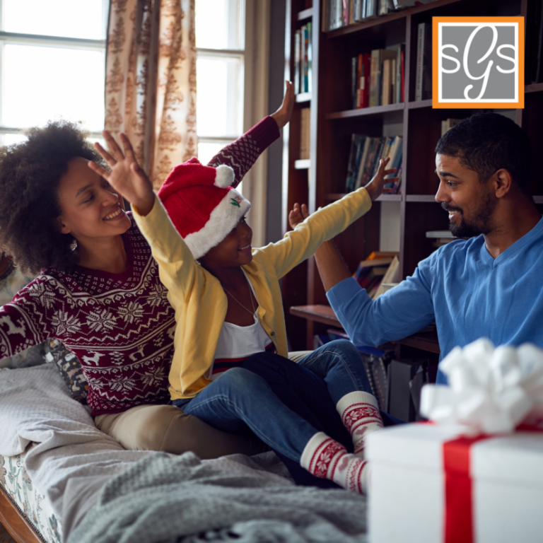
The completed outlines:
{"type": "Polygon", "coordinates": [[[368,436],[370,543],[543,542],[543,433],[464,432],[404,424],[368,436]]]}

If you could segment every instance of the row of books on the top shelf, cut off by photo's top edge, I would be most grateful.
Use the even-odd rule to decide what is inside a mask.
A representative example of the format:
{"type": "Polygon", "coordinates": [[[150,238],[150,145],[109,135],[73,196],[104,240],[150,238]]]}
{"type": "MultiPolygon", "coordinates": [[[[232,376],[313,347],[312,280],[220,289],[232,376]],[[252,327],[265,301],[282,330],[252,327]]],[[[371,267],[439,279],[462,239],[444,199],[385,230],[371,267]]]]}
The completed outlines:
{"type": "Polygon", "coordinates": [[[335,30],[436,0],[324,0],[322,30],[335,30]]]}

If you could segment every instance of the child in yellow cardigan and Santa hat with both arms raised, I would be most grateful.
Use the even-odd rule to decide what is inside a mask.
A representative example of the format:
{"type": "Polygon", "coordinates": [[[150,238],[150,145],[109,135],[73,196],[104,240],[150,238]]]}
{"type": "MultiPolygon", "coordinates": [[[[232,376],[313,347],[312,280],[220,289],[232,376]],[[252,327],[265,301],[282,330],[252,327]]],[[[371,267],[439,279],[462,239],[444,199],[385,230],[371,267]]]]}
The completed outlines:
{"type": "Polygon", "coordinates": [[[385,170],[388,160],[367,187],[317,211],[279,243],[252,251],[245,222],[250,203],[230,187],[228,167],[209,168],[197,159],[178,165],[158,199],[127,137],[121,134],[124,154],[110,134],[104,137],[111,152],[96,148],[111,172],[88,165],[134,204],[136,223],[175,308],[173,404],[225,431],[240,432],[246,424],[316,477],[366,491],[363,438],[383,421],[373,395],[363,392],[367,378],[354,346],[347,341],[325,346],[300,365],[325,379],[355,455],[288,409],[264,379],[240,364],[252,353],[287,355],[278,279],[370,209],[385,175],[394,171],[385,170]]]}

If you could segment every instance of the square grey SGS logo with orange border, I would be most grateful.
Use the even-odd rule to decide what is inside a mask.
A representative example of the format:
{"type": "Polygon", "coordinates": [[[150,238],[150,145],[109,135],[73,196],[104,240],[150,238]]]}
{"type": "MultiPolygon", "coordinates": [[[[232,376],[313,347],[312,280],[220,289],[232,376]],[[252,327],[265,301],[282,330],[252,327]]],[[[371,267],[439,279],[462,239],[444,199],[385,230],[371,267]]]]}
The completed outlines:
{"type": "Polygon", "coordinates": [[[432,107],[524,107],[523,17],[433,17],[432,107]]]}

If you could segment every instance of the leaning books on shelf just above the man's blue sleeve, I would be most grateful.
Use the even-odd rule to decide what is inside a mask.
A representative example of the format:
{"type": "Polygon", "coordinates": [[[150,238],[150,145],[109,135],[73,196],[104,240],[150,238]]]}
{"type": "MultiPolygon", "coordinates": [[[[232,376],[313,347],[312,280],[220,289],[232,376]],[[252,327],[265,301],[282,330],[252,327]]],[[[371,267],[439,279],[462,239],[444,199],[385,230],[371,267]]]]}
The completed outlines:
{"type": "Polygon", "coordinates": [[[370,298],[378,298],[385,292],[385,285],[397,283],[399,279],[399,259],[397,252],[374,251],[358,264],[354,279],[366,289],[370,298]]]}

